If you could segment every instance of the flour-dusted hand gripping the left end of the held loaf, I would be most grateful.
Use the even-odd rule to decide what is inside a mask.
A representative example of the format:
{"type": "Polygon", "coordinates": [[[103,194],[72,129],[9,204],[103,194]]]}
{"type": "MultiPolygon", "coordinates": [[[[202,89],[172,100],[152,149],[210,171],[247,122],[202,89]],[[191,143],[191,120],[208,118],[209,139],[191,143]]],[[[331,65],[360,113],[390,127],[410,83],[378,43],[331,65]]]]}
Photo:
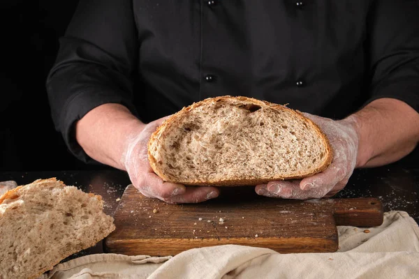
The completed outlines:
{"type": "Polygon", "coordinates": [[[150,122],[140,133],[128,137],[122,162],[126,172],[142,195],[154,197],[168,203],[204,202],[219,195],[214,187],[185,187],[181,184],[163,181],[149,165],[147,144],[150,136],[167,117],[150,122]]]}

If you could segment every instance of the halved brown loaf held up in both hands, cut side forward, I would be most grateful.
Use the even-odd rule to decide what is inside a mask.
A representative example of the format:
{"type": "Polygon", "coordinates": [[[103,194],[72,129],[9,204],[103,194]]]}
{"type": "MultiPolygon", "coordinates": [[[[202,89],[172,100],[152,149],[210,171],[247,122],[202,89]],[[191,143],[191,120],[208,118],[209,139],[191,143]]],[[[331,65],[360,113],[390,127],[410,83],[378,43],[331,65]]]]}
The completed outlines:
{"type": "Polygon", "coordinates": [[[161,179],[196,186],[300,179],[332,160],[328,138],[300,112],[242,96],[184,107],[153,133],[148,151],[161,179]]]}

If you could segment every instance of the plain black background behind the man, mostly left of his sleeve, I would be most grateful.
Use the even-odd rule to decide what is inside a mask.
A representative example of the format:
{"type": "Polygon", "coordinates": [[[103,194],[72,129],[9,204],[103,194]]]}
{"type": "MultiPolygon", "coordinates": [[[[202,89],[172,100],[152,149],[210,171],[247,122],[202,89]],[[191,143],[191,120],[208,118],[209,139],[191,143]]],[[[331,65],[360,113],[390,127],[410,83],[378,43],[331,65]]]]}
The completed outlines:
{"type": "MultiPolygon", "coordinates": [[[[52,123],[45,79],[78,0],[3,0],[0,15],[0,171],[106,169],[85,165],[52,123]]],[[[391,133],[391,131],[389,131],[391,133]]],[[[419,150],[402,159],[418,165],[419,150]]]]}

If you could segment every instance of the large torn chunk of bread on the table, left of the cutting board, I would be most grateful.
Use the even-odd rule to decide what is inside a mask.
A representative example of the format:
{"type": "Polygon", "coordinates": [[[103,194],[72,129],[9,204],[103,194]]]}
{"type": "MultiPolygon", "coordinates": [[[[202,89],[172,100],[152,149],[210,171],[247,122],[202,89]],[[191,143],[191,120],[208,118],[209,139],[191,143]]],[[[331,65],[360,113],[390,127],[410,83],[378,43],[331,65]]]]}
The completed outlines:
{"type": "Polygon", "coordinates": [[[115,229],[101,196],[38,179],[0,197],[0,278],[36,278],[115,229]]]}

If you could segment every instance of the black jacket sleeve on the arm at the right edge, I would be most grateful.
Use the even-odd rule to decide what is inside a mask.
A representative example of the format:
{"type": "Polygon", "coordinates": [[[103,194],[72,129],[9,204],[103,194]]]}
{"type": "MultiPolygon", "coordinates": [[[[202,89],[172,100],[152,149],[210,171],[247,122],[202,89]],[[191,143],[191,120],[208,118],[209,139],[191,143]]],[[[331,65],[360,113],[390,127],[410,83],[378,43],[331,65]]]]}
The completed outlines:
{"type": "Polygon", "coordinates": [[[395,98],[419,112],[419,1],[374,0],[366,35],[372,94],[367,103],[395,98]]]}

